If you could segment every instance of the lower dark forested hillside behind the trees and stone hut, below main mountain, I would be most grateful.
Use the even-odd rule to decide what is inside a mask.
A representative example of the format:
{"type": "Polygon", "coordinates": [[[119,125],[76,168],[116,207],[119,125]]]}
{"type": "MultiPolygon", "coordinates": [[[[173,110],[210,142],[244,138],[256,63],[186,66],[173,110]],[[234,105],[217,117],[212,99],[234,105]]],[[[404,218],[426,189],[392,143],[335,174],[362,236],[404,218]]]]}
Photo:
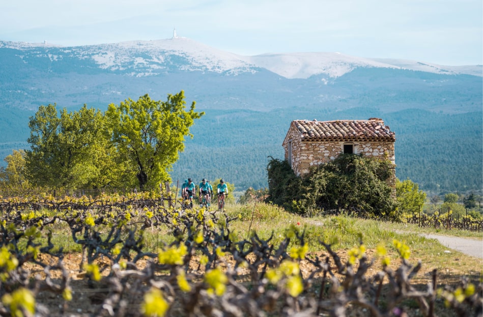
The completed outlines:
{"type": "MultiPolygon", "coordinates": [[[[186,139],[185,151],[174,166],[171,174],[175,182],[187,177],[223,177],[240,190],[266,187],[268,156],[283,157],[281,144],[292,120],[380,117],[396,134],[398,178],[410,178],[421,189],[435,193],[482,187],[482,112],[443,114],[407,109],[384,113],[371,108],[330,111],[315,107],[205,112],[192,126],[194,137],[186,139]]],[[[27,117],[33,114],[20,109],[3,111],[0,125],[15,128],[3,135],[2,157],[11,154],[12,149],[27,148],[27,117]]]]}

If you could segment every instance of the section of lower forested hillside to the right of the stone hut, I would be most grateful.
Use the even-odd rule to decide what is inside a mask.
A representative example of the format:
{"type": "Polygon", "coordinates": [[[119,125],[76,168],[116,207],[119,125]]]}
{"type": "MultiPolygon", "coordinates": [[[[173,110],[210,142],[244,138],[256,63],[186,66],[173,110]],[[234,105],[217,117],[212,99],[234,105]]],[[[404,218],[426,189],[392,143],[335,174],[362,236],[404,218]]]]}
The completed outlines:
{"type": "Polygon", "coordinates": [[[407,110],[386,116],[396,131],[396,175],[424,190],[481,189],[482,113],[407,110]],[[397,137],[399,135],[399,137],[397,137]]]}

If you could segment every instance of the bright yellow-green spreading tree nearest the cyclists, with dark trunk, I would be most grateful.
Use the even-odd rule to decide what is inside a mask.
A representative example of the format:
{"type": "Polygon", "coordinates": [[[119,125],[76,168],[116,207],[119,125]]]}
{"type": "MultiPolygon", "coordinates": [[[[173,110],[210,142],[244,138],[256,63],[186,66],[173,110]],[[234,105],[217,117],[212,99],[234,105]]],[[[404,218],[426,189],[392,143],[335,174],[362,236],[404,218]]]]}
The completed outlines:
{"type": "Polygon", "coordinates": [[[154,101],[148,94],[137,101],[110,104],[106,117],[113,144],[135,175],[141,190],[170,180],[168,171],[184,150],[189,128],[205,113],[195,112],[193,101],[186,111],[184,91],[168,94],[167,101],[154,101]]]}

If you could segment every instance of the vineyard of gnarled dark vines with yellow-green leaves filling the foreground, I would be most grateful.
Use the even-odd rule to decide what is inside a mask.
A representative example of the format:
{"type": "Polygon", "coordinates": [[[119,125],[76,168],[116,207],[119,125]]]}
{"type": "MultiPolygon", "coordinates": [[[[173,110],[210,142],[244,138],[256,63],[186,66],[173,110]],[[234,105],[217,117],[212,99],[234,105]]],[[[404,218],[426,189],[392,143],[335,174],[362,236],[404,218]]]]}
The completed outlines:
{"type": "Polygon", "coordinates": [[[320,239],[310,242],[325,251],[308,252],[303,226],[242,238],[238,216],[170,195],[0,200],[0,314],[407,316],[409,302],[423,316],[481,316],[481,281],[438,288],[434,270],[421,287],[404,241],[393,240],[397,261],[363,241],[342,254],[320,239]]]}

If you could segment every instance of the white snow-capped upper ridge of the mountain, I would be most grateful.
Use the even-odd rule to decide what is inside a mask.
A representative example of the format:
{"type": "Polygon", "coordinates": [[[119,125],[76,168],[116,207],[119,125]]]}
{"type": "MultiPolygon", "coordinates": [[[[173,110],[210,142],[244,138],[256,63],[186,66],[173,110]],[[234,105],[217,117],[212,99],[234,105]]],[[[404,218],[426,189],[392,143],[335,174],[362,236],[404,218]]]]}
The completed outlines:
{"type": "Polygon", "coordinates": [[[62,47],[50,43],[2,42],[0,47],[36,50],[51,60],[64,56],[92,59],[99,68],[124,71],[133,76],[149,76],[166,72],[169,67],[184,71],[226,74],[254,73],[269,70],[285,78],[309,78],[323,75],[340,77],[359,67],[407,69],[437,74],[483,76],[483,67],[440,66],[403,59],[363,58],[337,52],[272,53],[243,56],[218,50],[188,38],[155,41],[127,41],[112,44],[62,47]],[[42,49],[42,51],[40,51],[42,49]]]}

